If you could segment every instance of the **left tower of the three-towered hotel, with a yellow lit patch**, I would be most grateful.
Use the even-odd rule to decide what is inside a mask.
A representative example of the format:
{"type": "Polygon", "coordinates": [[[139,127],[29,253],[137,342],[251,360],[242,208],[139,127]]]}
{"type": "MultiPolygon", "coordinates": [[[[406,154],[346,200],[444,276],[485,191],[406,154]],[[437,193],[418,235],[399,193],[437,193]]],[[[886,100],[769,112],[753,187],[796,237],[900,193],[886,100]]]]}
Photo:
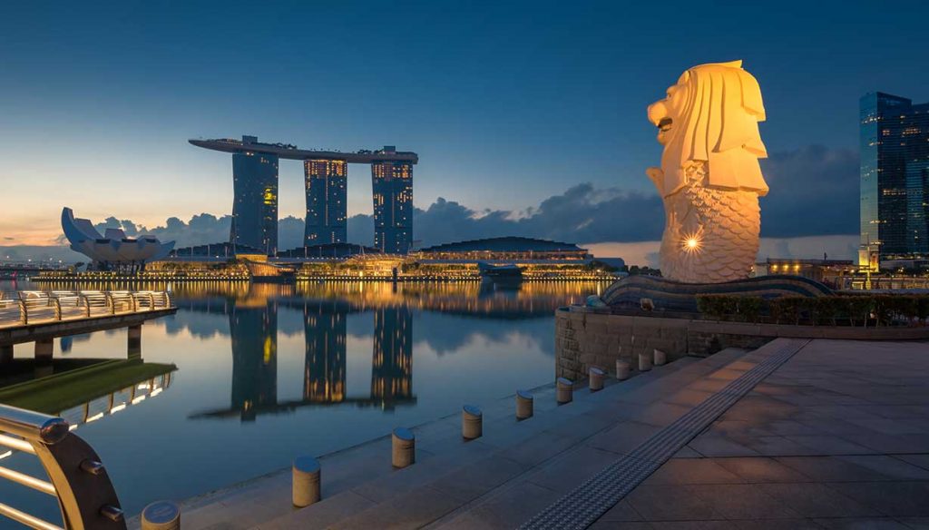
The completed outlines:
{"type": "Polygon", "coordinates": [[[232,193],[229,241],[273,255],[278,250],[278,155],[233,153],[232,193]]]}

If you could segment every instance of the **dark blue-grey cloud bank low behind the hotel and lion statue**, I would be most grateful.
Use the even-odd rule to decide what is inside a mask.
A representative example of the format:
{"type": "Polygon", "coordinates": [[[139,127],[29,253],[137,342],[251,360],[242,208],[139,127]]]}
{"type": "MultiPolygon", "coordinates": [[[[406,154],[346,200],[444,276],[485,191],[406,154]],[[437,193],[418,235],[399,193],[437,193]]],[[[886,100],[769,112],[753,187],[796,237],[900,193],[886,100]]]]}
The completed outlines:
{"type": "MultiPolygon", "coordinates": [[[[803,245],[785,243],[795,238],[857,234],[858,158],[855,152],[822,146],[773,152],[762,161],[762,170],[771,188],[762,198],[762,236],[765,242],[771,242],[763,245],[763,251],[779,257],[797,257],[801,252],[820,256],[822,252],[813,252],[815,247],[831,249],[831,252],[825,250],[831,254],[842,248],[845,254],[846,246],[855,245],[847,237],[821,245],[811,242],[815,240],[803,245]]],[[[645,175],[642,179],[646,179],[645,175]]],[[[130,236],[150,233],[162,241],[177,241],[177,246],[182,247],[228,240],[230,222],[229,215],[216,217],[203,213],[188,221],[169,218],[164,226],[156,227],[114,217],[97,226],[101,231],[122,228],[130,236]]],[[[655,253],[647,249],[661,239],[663,225],[661,199],[655,193],[595,187],[591,183],[572,186],[524,210],[479,210],[440,197],[425,209],[416,208],[413,212],[413,236],[421,246],[519,235],[591,246],[622,243],[645,262],[652,259],[649,253],[655,253]]],[[[293,216],[281,219],[279,247],[302,245],[303,231],[303,219],[293,216]]],[[[348,219],[347,232],[349,241],[370,245],[373,219],[369,215],[353,216],[348,219]]],[[[59,241],[65,243],[63,236],[59,241]]],[[[630,261],[636,262],[635,259],[630,261]]]]}

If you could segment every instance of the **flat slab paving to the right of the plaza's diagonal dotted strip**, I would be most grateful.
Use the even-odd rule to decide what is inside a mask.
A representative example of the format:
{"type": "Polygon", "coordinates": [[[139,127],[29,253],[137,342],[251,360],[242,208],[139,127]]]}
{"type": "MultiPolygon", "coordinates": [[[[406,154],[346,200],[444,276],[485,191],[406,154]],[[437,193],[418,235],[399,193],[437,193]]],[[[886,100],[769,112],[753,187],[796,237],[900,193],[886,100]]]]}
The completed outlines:
{"type": "Polygon", "coordinates": [[[652,527],[929,528],[929,384],[914,371],[929,344],[814,340],[623,502],[652,527]],[[662,513],[660,493],[702,508],[662,513]]]}

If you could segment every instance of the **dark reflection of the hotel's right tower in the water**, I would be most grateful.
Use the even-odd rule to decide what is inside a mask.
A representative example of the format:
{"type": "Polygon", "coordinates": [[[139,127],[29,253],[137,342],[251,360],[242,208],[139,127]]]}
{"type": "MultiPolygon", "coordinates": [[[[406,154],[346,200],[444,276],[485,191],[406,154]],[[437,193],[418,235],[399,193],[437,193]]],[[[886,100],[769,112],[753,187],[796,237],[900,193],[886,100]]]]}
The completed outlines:
{"type": "Polygon", "coordinates": [[[412,398],[412,312],[405,306],[374,311],[371,397],[385,408],[412,398]]]}

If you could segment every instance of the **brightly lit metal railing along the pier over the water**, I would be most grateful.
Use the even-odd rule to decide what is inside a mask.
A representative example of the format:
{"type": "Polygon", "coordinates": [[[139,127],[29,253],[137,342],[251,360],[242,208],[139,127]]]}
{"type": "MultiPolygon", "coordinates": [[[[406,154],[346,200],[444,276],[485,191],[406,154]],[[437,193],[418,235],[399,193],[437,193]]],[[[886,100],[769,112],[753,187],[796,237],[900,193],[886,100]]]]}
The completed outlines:
{"type": "Polygon", "coordinates": [[[0,293],[0,328],[158,311],[172,307],[164,291],[17,291],[0,293]]]}

